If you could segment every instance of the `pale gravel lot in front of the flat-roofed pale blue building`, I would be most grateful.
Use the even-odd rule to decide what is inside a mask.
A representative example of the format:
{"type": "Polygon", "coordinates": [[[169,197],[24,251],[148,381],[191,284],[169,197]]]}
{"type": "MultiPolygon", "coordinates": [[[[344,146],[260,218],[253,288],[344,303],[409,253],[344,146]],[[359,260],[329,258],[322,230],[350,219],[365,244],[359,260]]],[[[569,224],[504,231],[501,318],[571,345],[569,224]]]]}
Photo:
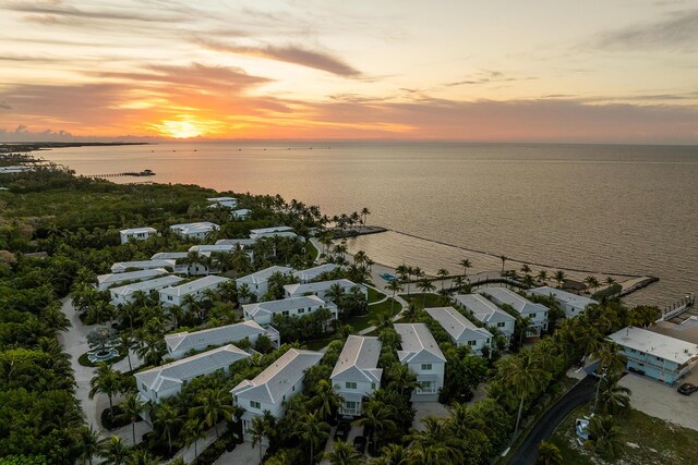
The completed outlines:
{"type": "MultiPolygon", "coordinates": [[[[698,381],[698,369],[687,377],[688,381],[698,381]]],[[[672,421],[686,428],[698,430],[698,393],[682,395],[677,386],[671,387],[650,378],[627,374],[618,384],[633,391],[630,405],[647,415],[672,421]]]]}

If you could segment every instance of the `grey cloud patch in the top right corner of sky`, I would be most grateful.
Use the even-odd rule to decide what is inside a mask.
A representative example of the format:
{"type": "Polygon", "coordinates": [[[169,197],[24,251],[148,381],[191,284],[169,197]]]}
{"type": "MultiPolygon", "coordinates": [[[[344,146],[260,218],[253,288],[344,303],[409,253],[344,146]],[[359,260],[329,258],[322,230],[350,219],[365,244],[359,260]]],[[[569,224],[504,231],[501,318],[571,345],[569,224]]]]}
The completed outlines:
{"type": "Polygon", "coordinates": [[[670,13],[654,23],[603,33],[595,46],[607,50],[695,51],[698,48],[698,9],[670,13]]]}

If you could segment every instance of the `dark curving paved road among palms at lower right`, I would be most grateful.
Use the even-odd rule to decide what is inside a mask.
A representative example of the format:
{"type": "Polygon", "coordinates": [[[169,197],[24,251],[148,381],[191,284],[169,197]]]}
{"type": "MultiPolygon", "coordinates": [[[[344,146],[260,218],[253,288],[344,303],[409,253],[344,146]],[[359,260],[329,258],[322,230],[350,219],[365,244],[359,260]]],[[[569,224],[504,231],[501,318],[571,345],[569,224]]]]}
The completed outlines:
{"type": "Polygon", "coordinates": [[[547,440],[557,425],[571,411],[593,397],[595,386],[597,379],[592,376],[587,376],[579,381],[564,397],[543,414],[526,439],[524,439],[519,449],[510,456],[508,463],[512,465],[530,465],[534,463],[538,456],[538,444],[547,440]]]}

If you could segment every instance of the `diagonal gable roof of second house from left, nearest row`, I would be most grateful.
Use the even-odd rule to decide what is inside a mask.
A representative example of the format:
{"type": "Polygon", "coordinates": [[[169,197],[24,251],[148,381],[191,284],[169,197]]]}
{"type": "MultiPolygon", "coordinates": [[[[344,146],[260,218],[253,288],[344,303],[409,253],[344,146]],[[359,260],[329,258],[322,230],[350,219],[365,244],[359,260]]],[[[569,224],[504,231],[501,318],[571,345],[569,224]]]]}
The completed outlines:
{"type": "Polygon", "coordinates": [[[278,404],[305,376],[305,370],[320,363],[320,352],[291,348],[253,380],[244,380],[230,393],[252,401],[278,404]]]}

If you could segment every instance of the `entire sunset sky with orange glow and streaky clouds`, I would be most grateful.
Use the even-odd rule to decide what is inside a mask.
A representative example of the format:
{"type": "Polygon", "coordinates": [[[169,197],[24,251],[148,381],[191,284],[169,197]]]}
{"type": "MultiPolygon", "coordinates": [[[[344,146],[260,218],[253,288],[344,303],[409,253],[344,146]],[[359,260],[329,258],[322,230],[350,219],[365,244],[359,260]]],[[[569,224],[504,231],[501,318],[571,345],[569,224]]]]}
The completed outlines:
{"type": "Polygon", "coordinates": [[[0,0],[0,140],[698,145],[697,103],[697,0],[0,0]]]}

